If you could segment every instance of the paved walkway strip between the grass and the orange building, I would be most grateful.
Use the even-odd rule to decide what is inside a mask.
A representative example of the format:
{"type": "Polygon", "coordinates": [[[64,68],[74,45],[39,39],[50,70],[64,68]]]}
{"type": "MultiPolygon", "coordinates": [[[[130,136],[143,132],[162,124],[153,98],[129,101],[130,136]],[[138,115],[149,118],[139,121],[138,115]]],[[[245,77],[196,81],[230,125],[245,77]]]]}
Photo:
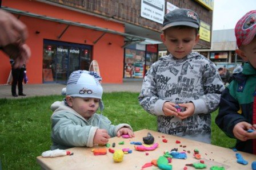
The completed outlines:
{"type": "MultiPolygon", "coordinates": [[[[124,80],[123,84],[102,84],[103,92],[141,92],[142,80],[124,80]]],[[[61,94],[63,84],[25,84],[23,93],[26,97],[49,96],[52,94],[61,94]]],[[[17,87],[18,93],[18,87],[17,87]]],[[[23,98],[11,96],[11,85],[0,86],[0,98],[23,98]]]]}

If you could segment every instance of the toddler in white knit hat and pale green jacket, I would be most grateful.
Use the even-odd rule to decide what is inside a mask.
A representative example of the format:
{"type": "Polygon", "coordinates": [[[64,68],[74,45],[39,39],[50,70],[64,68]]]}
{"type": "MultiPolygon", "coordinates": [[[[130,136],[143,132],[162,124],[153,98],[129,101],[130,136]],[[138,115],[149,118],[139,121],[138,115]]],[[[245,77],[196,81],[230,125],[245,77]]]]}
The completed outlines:
{"type": "Polygon", "coordinates": [[[70,74],[64,101],[54,102],[51,110],[51,150],[70,147],[93,147],[106,144],[110,137],[128,134],[134,137],[130,125],[111,125],[102,115],[101,77],[95,72],[74,71],[70,74]],[[96,111],[101,110],[101,114],[96,111]]]}

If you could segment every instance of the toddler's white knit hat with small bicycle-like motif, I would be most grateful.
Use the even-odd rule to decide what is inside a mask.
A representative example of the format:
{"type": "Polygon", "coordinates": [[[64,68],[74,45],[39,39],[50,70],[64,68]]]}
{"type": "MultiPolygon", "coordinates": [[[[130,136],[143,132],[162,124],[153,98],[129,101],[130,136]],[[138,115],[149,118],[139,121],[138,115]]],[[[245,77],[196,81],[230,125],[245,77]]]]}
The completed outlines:
{"type": "Polygon", "coordinates": [[[67,80],[66,95],[82,98],[102,98],[101,77],[96,72],[74,71],[67,80]]]}

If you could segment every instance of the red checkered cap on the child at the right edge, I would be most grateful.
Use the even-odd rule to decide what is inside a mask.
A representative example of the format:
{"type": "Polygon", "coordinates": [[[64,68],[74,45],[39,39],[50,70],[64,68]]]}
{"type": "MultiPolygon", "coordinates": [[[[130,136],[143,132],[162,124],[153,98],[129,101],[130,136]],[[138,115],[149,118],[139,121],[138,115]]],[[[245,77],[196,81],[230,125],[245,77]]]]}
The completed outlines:
{"type": "Polygon", "coordinates": [[[256,10],[249,11],[235,25],[237,47],[247,45],[256,35],[256,10]]]}

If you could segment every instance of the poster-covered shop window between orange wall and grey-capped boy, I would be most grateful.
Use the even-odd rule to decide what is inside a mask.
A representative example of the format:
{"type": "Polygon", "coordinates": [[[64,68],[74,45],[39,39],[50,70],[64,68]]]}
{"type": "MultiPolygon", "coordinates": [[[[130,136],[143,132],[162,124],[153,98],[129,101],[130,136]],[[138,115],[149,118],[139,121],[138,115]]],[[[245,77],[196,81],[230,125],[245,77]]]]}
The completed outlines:
{"type": "Polygon", "coordinates": [[[145,51],[125,49],[125,78],[143,78],[145,51]]]}

